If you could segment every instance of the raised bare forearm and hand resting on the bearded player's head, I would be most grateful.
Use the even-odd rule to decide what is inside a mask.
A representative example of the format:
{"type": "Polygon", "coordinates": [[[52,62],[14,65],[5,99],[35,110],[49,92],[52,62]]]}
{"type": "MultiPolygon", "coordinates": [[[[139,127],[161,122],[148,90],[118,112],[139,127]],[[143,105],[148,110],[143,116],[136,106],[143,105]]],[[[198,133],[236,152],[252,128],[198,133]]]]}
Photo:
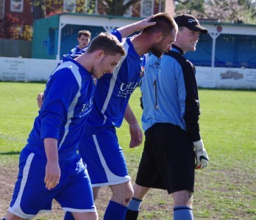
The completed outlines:
{"type": "Polygon", "coordinates": [[[131,23],[127,26],[123,26],[121,28],[118,28],[118,32],[120,32],[121,37],[127,37],[130,34],[133,34],[134,32],[140,32],[142,29],[145,29],[148,26],[153,26],[156,24],[156,22],[149,22],[151,18],[153,18],[154,15],[151,15],[149,18],[145,18],[141,21],[137,21],[135,23],[131,23]]]}

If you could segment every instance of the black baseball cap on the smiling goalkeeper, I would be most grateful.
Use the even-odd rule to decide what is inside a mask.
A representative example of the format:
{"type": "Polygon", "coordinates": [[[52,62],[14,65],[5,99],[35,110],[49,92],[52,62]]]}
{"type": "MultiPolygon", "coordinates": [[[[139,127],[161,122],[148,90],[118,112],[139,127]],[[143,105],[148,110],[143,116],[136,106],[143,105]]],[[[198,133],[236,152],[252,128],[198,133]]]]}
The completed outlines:
{"type": "Polygon", "coordinates": [[[200,32],[202,34],[208,33],[207,29],[200,26],[199,21],[193,15],[188,15],[188,14],[177,15],[174,17],[174,21],[177,23],[179,27],[185,26],[186,28],[190,29],[193,32],[200,32]]]}

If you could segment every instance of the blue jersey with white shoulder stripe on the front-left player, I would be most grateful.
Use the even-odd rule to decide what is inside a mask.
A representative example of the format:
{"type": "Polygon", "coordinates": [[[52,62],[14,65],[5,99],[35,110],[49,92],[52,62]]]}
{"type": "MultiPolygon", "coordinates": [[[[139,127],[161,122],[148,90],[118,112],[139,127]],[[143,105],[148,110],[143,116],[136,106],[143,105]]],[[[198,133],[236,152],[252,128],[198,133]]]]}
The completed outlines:
{"type": "Polygon", "coordinates": [[[76,157],[95,89],[96,78],[74,59],[64,57],[46,83],[43,106],[26,147],[45,155],[43,139],[54,138],[58,140],[60,160],[76,157]]]}

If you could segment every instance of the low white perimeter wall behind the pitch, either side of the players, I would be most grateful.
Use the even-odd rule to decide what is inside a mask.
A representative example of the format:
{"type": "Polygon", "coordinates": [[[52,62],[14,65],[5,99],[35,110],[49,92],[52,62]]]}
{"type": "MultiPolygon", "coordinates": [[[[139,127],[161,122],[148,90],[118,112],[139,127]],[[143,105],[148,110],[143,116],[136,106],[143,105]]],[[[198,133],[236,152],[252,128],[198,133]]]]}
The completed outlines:
{"type": "MultiPolygon", "coordinates": [[[[47,81],[57,60],[0,57],[0,81],[47,81]]],[[[196,67],[199,87],[256,89],[256,69],[196,67]]]]}

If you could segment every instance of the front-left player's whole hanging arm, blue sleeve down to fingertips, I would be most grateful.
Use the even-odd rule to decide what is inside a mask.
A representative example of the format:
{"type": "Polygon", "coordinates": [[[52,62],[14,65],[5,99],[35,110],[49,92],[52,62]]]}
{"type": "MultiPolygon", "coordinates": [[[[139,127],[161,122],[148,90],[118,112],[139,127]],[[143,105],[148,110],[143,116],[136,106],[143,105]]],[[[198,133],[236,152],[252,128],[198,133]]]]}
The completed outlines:
{"type": "Polygon", "coordinates": [[[79,85],[71,70],[65,69],[65,74],[56,74],[46,87],[43,108],[40,110],[40,138],[43,139],[46,152],[46,175],[44,183],[49,190],[60,181],[60,166],[58,155],[58,139],[60,126],[68,115],[68,106],[77,95],[79,85]],[[65,75],[65,78],[63,77],[65,75]],[[61,91],[61,92],[60,92],[61,91]]]}

